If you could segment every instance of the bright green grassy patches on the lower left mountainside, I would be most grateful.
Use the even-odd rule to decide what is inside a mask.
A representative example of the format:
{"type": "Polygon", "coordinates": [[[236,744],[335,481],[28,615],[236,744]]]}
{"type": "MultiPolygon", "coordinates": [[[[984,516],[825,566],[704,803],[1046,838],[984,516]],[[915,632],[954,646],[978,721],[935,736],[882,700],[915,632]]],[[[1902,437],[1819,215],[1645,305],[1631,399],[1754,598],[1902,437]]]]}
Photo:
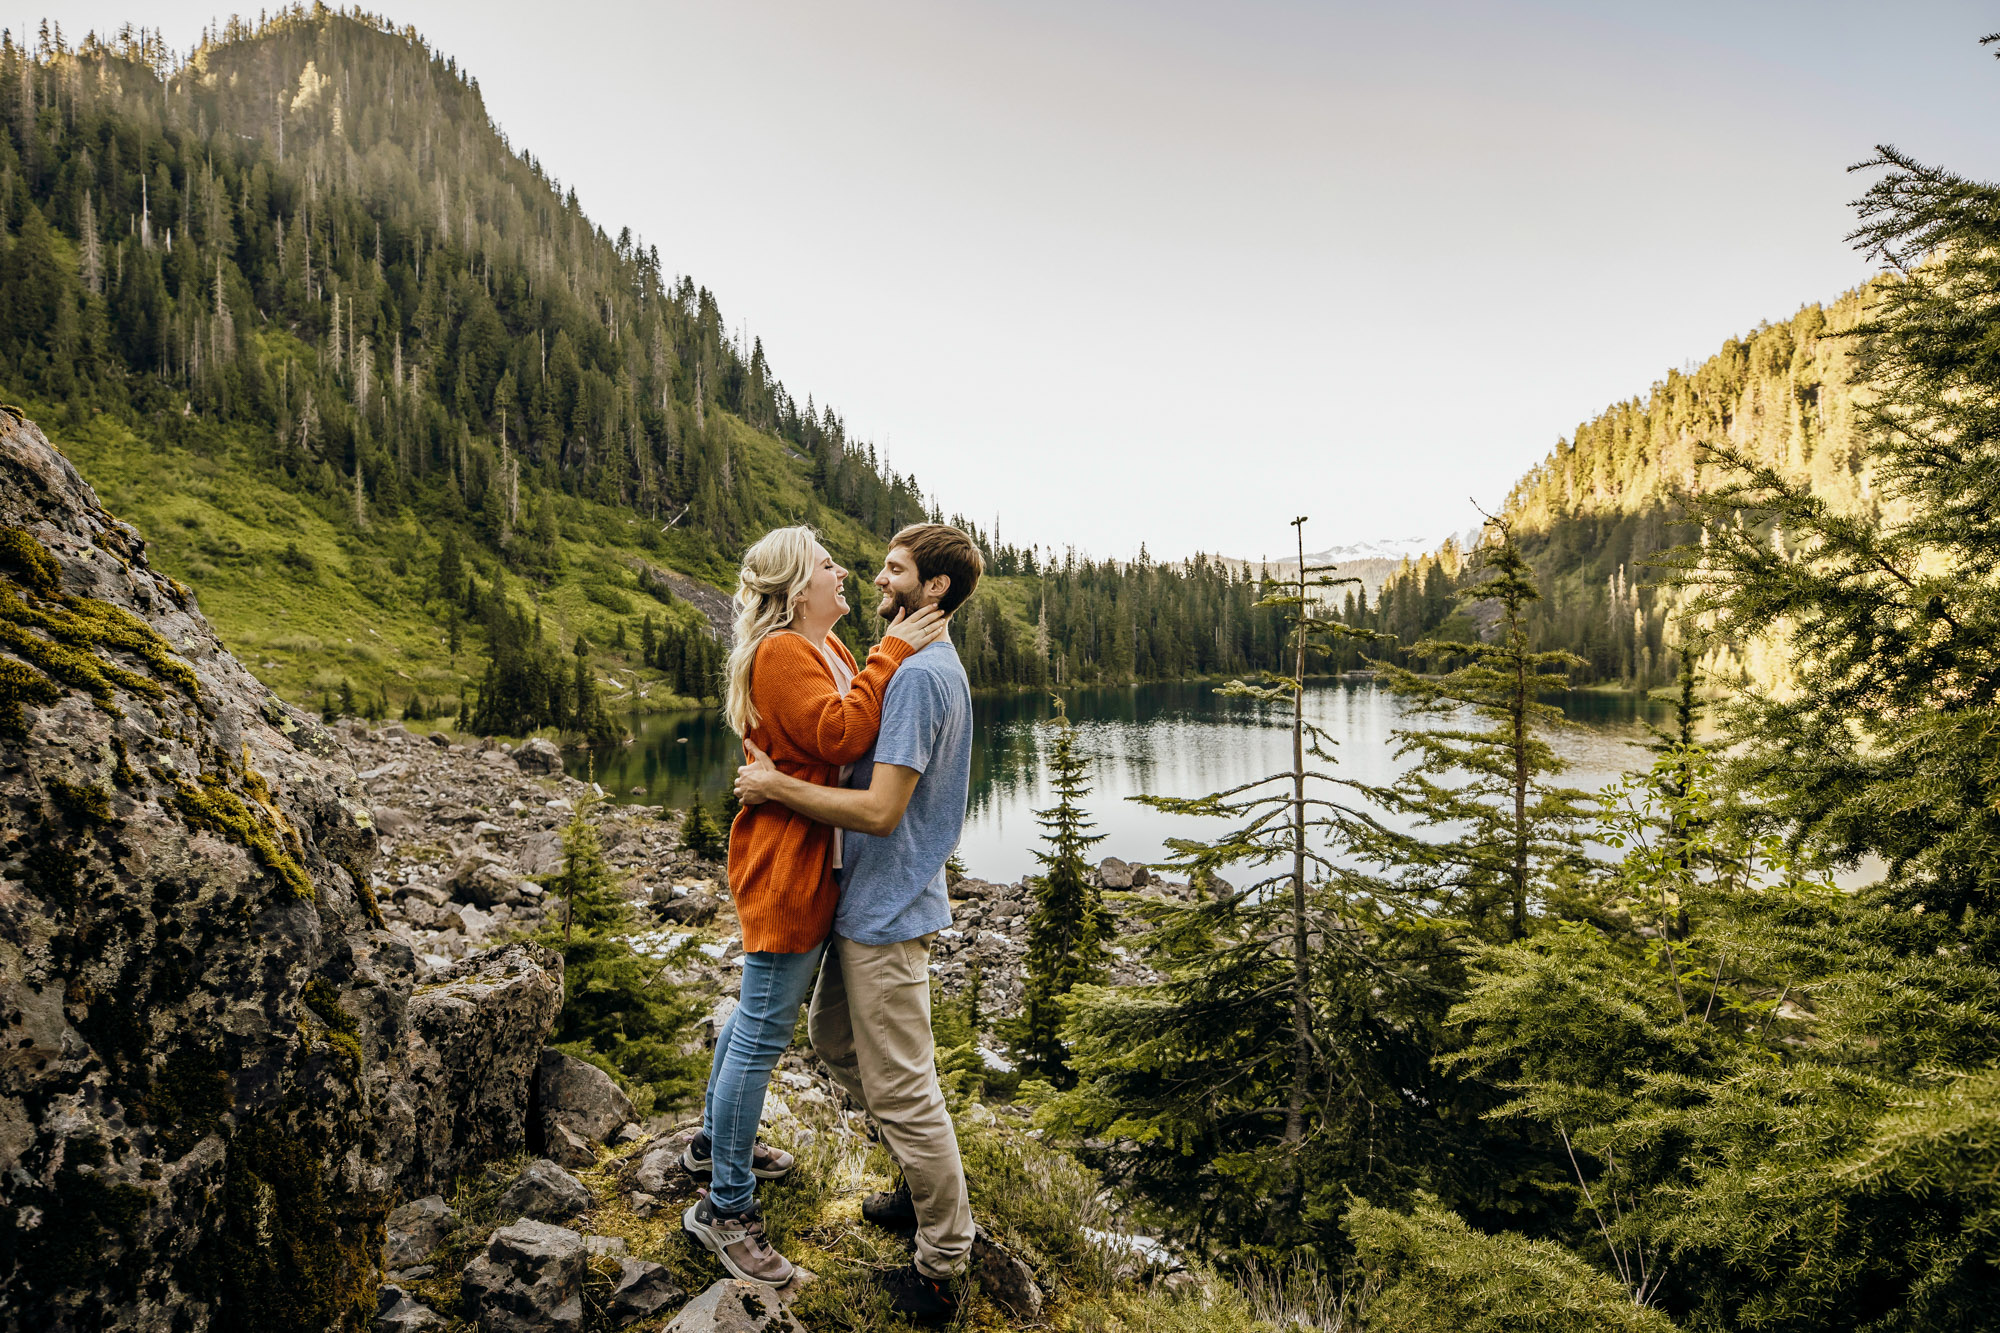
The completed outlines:
{"type": "MultiPolygon", "coordinates": [[[[106,506],[146,536],[154,562],[192,586],[224,644],[286,699],[316,705],[350,683],[362,699],[386,695],[392,711],[412,697],[456,705],[482,669],[478,628],[448,644],[438,598],[444,524],[404,510],[366,528],[336,504],[298,494],[250,462],[242,430],[200,432],[200,444],[156,444],[98,414],[24,404],[50,440],[98,488],[106,506]]],[[[774,510],[814,522],[830,548],[868,568],[880,538],[814,502],[800,464],[768,434],[726,418],[734,446],[774,510]]],[[[642,568],[678,570],[726,588],[734,566],[684,528],[660,530],[630,508],[582,496],[558,500],[558,566],[546,586],[514,580],[512,596],[540,612],[568,644],[598,648],[598,679],[614,701],[640,709],[694,703],[640,662],[640,620],[694,628],[702,612],[642,568]],[[624,648],[614,646],[624,632],[624,648]]],[[[468,550],[478,568],[492,552],[468,550]]],[[[854,592],[856,600],[860,592],[854,592]]],[[[1010,598],[1018,602],[1016,598],[1010,598]]],[[[868,600],[872,606],[872,600],[868,600]]]]}

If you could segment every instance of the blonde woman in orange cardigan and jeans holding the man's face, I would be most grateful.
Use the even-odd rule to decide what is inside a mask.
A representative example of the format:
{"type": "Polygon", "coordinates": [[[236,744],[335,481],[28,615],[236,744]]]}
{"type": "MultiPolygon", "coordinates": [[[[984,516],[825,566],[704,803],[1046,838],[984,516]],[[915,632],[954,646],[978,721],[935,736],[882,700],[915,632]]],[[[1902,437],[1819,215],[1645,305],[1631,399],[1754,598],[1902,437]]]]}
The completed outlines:
{"type": "MultiPolygon", "coordinates": [[[[896,616],[856,671],[834,638],[848,612],[840,568],[812,528],[778,528],[744,552],[736,582],[736,644],[728,660],[730,727],[784,773],[830,787],[868,753],[882,727],[882,693],[896,666],[946,634],[936,608],[896,616]]],[[[782,1287],[790,1261],[764,1239],[756,1181],[792,1169],[790,1153],[756,1143],[770,1071],[792,1041],[840,891],[838,831],[778,803],[748,805],[730,825],[730,893],[744,931],[742,995],[716,1037],[702,1133],[682,1155],[714,1171],[682,1229],[734,1277],[782,1287]]]]}

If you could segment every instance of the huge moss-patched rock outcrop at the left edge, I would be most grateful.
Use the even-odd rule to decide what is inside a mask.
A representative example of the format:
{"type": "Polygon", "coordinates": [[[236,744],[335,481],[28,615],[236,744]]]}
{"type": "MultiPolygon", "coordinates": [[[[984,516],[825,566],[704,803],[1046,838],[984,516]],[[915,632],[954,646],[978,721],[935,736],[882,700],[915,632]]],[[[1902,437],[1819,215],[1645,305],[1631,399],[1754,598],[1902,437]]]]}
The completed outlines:
{"type": "MultiPolygon", "coordinates": [[[[388,1209],[518,1147],[416,1143],[452,1061],[334,755],[0,408],[6,1333],[364,1327],[388,1209]]],[[[540,963],[498,979],[542,995],[520,1117],[540,963]]]]}

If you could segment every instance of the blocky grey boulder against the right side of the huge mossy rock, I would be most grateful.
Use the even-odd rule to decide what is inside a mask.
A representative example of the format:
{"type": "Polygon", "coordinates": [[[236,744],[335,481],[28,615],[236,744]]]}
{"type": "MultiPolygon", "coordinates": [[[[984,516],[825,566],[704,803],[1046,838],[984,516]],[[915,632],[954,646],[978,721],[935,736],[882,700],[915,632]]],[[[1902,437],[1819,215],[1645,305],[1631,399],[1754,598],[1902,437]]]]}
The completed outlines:
{"type": "Polygon", "coordinates": [[[474,953],[410,999],[408,1075],[388,1109],[404,1193],[528,1147],[534,1069],[560,1007],[562,955],[540,945],[474,953]]]}

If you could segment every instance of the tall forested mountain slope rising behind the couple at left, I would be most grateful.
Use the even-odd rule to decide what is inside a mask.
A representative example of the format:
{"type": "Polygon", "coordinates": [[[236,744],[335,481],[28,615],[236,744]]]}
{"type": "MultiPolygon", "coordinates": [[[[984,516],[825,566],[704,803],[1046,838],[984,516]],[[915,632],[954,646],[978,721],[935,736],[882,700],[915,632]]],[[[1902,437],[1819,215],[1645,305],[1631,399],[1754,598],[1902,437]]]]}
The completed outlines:
{"type": "MultiPolygon", "coordinates": [[[[706,695],[664,570],[728,586],[796,520],[868,570],[942,516],[410,30],[294,8],[186,60],[130,30],[8,40],[0,124],[0,390],[294,699],[454,707],[480,648],[512,723],[706,695]]],[[[1220,566],[988,548],[958,624],[982,685],[1272,650],[1220,566]]]]}

